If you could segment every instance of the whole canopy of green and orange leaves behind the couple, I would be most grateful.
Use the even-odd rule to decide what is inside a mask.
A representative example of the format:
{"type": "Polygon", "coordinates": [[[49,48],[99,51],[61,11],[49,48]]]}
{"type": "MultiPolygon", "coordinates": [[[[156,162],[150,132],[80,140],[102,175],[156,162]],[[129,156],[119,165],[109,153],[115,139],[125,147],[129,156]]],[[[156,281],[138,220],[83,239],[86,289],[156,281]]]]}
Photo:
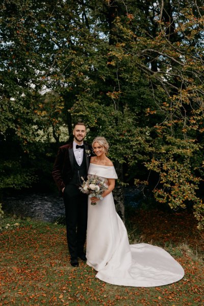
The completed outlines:
{"type": "Polygon", "coordinates": [[[203,33],[199,0],[3,0],[0,187],[32,184],[50,131],[58,145],[80,117],[121,181],[193,206],[202,228],[203,33]]]}

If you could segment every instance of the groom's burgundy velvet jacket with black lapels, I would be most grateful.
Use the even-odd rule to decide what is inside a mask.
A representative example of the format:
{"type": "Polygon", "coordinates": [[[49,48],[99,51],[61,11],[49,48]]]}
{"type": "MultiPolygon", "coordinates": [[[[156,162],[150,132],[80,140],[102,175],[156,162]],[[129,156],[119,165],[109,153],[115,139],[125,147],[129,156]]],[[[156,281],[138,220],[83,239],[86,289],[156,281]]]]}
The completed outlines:
{"type": "MultiPolygon", "coordinates": [[[[92,156],[92,147],[84,143],[87,172],[92,156]]],[[[73,176],[73,143],[59,147],[58,154],[53,167],[52,175],[59,191],[69,183],[73,176]]]]}

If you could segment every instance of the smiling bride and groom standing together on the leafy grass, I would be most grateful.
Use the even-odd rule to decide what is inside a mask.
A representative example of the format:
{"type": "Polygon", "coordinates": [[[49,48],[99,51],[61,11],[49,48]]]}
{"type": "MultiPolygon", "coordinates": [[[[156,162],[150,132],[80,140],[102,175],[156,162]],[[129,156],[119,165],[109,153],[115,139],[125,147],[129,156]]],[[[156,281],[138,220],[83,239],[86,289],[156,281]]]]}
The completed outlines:
{"type": "Polygon", "coordinates": [[[117,174],[107,157],[106,139],[96,137],[92,147],[84,143],[86,126],[82,122],[74,124],[73,136],[73,143],[59,148],[53,169],[64,198],[70,264],[77,267],[78,258],[87,260],[98,271],[97,278],[113,285],[155,287],[179,281],[184,270],[165,250],[146,243],[129,244],[126,228],[115,211],[112,190],[117,174]],[[104,199],[87,200],[79,190],[81,177],[87,179],[87,173],[107,180],[104,199]],[[91,202],[97,203],[93,206],[91,202]]]}

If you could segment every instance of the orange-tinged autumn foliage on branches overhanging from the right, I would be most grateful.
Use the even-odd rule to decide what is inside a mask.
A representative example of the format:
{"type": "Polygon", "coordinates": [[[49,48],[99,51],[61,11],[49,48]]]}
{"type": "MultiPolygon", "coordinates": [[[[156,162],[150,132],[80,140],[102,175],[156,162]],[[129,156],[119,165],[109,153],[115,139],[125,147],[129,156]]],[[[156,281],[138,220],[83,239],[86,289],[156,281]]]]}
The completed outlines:
{"type": "MultiPolygon", "coordinates": [[[[106,67],[105,86],[87,72],[89,86],[78,93],[71,112],[92,127],[90,138],[107,137],[110,157],[126,163],[127,174],[138,163],[157,172],[156,199],[172,209],[192,203],[202,228],[203,194],[200,197],[197,191],[203,175],[196,171],[203,161],[202,12],[198,7],[193,12],[188,5],[190,11],[165,3],[159,19],[159,7],[144,4],[136,13],[131,4],[125,11],[119,2],[114,9],[109,2],[107,12],[99,16],[104,20],[102,15],[114,10],[114,31],[107,24],[111,33],[107,54],[100,48],[102,39],[94,45],[100,67],[106,67]]],[[[99,66],[92,65],[99,74],[99,66]]]]}

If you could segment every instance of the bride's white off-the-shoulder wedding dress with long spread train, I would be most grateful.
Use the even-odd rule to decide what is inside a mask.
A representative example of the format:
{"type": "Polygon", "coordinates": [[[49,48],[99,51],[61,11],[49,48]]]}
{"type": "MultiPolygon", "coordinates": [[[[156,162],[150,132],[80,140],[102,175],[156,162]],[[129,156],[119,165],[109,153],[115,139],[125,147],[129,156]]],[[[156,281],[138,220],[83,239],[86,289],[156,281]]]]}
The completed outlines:
{"type": "MultiPolygon", "coordinates": [[[[88,174],[117,179],[113,166],[90,164],[88,174]]],[[[86,257],[87,264],[98,271],[96,277],[113,285],[155,287],[184,276],[182,266],[161,247],[129,244],[112,192],[95,206],[89,198],[86,257]]]]}

